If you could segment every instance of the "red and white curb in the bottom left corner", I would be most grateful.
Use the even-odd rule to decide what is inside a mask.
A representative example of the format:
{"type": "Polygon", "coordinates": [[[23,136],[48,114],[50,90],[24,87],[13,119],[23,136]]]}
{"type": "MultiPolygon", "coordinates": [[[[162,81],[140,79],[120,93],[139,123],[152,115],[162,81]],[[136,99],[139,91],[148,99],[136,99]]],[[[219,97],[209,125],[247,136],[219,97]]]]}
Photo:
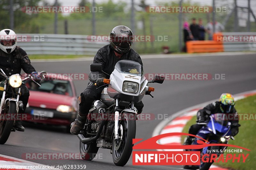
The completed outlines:
{"type": "Polygon", "coordinates": [[[0,154],[0,170],[50,170],[51,168],[47,165],[30,162],[23,159],[18,159],[6,155],[0,154]]]}

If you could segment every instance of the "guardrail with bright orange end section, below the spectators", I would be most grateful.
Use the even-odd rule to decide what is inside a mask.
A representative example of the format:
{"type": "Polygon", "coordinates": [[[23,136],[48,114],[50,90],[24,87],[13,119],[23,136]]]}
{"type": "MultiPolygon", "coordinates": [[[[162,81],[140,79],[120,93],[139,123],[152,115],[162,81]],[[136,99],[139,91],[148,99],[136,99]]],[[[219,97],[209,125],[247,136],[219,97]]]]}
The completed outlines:
{"type": "Polygon", "coordinates": [[[219,32],[209,41],[187,41],[188,53],[256,51],[256,32],[219,32]]]}

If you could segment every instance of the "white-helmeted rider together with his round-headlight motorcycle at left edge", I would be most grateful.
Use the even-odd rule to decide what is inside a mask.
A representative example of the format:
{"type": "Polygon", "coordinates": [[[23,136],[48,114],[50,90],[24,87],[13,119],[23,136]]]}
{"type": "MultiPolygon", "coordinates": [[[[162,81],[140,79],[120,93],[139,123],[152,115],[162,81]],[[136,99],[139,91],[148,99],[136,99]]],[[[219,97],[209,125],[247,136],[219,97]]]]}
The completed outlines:
{"type": "MultiPolygon", "coordinates": [[[[28,54],[22,48],[17,46],[17,35],[11,29],[0,31],[0,68],[0,96],[2,97],[0,106],[1,117],[6,114],[8,107],[9,111],[11,110],[10,103],[9,106],[7,105],[8,102],[12,100],[15,101],[15,110],[18,111],[17,114],[24,113],[28,103],[29,91],[26,85],[22,83],[20,76],[21,69],[28,74],[26,79],[35,79],[34,82],[37,84],[40,83],[41,79],[35,68],[31,65],[28,54]]],[[[25,130],[18,119],[12,121],[1,119],[0,144],[5,143],[3,136],[6,138],[6,131],[4,131],[4,129],[11,123],[12,131],[25,130]]]]}

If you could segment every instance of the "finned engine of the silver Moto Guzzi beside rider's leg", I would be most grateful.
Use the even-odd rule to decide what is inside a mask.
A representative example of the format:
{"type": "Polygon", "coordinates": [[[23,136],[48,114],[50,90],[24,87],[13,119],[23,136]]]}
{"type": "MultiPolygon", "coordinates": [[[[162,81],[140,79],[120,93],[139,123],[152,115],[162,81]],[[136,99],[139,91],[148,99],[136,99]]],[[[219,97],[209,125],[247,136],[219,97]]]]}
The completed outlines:
{"type": "Polygon", "coordinates": [[[89,111],[89,117],[92,120],[95,120],[97,123],[101,123],[102,115],[99,113],[99,110],[103,108],[105,109],[105,118],[108,120],[108,114],[110,113],[110,110],[107,109],[107,105],[102,103],[100,100],[97,100],[93,103],[92,109],[89,111]]]}

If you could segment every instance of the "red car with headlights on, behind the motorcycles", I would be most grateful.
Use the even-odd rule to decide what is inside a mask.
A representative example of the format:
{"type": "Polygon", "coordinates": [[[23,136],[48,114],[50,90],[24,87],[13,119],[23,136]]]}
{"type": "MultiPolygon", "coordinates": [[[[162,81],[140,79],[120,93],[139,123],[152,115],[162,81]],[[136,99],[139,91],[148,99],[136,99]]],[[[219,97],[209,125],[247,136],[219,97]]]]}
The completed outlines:
{"type": "Polygon", "coordinates": [[[29,89],[26,109],[30,122],[65,125],[67,131],[77,115],[77,96],[72,80],[62,74],[47,73],[41,87],[32,81],[24,82],[29,89]]]}

